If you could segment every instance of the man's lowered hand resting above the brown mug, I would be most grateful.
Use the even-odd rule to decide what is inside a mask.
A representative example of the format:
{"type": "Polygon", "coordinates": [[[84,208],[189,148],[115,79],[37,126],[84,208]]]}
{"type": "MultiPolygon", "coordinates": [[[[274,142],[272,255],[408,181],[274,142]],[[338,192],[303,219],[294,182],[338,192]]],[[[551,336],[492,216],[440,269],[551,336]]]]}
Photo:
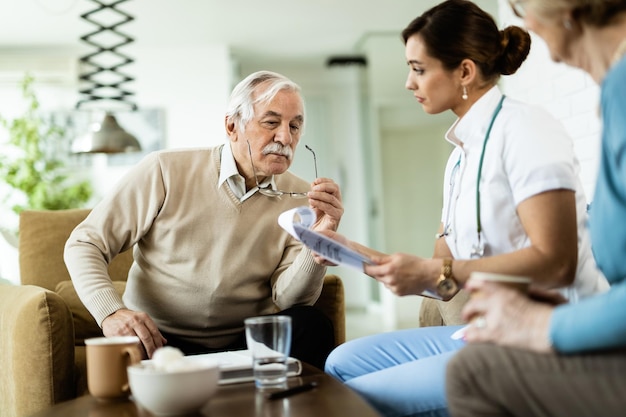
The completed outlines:
{"type": "Polygon", "coordinates": [[[120,309],[102,321],[105,336],[137,336],[143,344],[148,358],[167,340],[163,337],[154,321],[146,313],[120,309]]]}

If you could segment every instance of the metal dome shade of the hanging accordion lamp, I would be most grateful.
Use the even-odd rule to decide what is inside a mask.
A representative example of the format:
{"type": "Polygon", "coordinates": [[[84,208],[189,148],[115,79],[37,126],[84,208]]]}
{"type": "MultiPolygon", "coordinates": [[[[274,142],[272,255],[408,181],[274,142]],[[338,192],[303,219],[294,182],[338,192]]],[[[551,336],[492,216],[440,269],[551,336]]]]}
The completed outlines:
{"type": "Polygon", "coordinates": [[[122,129],[111,113],[107,113],[101,123],[93,123],[89,132],[72,142],[74,153],[121,153],[140,150],[141,145],[137,138],[122,129]]]}

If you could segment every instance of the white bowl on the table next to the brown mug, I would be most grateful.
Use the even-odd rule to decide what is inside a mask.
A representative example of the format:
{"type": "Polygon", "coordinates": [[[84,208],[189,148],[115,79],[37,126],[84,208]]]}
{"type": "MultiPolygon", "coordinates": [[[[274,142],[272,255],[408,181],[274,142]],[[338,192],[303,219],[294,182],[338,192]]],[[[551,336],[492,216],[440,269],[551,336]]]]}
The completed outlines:
{"type": "Polygon", "coordinates": [[[177,370],[159,370],[151,361],[128,367],[128,382],[139,405],[158,416],[198,411],[215,393],[219,366],[214,361],[184,358],[189,365],[177,370]]]}

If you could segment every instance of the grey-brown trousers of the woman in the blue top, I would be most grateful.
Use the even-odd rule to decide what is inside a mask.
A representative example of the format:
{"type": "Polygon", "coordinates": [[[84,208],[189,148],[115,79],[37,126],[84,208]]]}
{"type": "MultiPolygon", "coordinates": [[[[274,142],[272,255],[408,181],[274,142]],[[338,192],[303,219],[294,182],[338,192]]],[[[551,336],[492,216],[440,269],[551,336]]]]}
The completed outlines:
{"type": "Polygon", "coordinates": [[[626,416],[626,350],[538,354],[469,345],[449,362],[453,417],[626,416]]]}

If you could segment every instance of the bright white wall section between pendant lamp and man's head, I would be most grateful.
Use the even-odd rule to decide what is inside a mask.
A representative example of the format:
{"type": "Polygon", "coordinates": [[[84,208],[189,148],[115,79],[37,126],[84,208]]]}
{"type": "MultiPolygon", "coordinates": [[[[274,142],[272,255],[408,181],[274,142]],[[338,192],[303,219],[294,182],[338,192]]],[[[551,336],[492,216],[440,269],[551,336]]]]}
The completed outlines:
{"type": "Polygon", "coordinates": [[[225,141],[223,115],[232,83],[227,46],[138,48],[134,65],[139,105],[167,112],[167,148],[225,141]]]}

